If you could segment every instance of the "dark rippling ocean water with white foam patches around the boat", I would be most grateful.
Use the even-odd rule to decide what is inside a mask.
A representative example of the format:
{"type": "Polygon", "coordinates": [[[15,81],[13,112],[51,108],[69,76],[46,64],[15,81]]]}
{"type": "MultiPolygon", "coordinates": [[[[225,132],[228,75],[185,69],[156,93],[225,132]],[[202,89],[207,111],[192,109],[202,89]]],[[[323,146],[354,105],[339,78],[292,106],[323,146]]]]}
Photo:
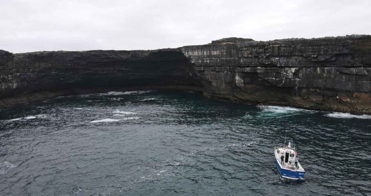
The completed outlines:
{"type": "Polygon", "coordinates": [[[7,107],[0,195],[370,195],[370,122],[179,91],[7,107]],[[305,180],[278,175],[273,151],[286,130],[305,180]]]}

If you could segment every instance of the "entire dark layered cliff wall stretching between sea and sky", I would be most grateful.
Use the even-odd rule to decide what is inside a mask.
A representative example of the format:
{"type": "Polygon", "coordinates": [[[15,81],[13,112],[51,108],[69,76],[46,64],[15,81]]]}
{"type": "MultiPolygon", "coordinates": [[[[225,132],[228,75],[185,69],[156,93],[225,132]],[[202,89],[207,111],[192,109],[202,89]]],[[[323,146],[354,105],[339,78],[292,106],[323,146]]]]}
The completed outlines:
{"type": "Polygon", "coordinates": [[[371,36],[147,51],[0,50],[0,106],[111,89],[191,89],[243,104],[371,114],[371,36]]]}

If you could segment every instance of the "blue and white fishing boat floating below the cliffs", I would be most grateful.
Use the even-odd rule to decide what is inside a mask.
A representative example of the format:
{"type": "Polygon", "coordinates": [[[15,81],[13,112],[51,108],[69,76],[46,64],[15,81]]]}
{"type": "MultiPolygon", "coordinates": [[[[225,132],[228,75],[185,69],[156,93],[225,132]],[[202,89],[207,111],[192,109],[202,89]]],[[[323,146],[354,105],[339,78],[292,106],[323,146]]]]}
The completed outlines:
{"type": "Polygon", "coordinates": [[[292,144],[292,139],[289,145],[286,145],[286,136],[284,144],[275,146],[276,165],[283,178],[304,179],[304,168],[300,165],[296,156],[298,156],[298,152],[296,152],[295,145],[292,144]],[[281,156],[283,156],[283,160],[281,156]]]}

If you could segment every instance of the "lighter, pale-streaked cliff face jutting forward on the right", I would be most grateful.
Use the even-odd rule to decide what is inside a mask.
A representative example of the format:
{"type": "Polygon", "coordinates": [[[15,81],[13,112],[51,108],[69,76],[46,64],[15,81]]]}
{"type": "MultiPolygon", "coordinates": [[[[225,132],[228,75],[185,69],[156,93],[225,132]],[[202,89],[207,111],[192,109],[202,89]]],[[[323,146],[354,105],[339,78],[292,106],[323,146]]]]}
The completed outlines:
{"type": "Polygon", "coordinates": [[[207,98],[371,114],[371,36],[185,46],[207,98]]]}

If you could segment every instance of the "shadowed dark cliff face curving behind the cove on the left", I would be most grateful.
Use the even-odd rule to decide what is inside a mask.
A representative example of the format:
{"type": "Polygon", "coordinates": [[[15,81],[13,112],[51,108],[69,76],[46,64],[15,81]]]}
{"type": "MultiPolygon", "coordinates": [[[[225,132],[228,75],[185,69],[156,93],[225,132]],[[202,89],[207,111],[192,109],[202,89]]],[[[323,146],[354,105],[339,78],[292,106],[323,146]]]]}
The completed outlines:
{"type": "Polygon", "coordinates": [[[151,51],[0,51],[0,106],[109,90],[200,90],[179,49],[151,51]]]}

